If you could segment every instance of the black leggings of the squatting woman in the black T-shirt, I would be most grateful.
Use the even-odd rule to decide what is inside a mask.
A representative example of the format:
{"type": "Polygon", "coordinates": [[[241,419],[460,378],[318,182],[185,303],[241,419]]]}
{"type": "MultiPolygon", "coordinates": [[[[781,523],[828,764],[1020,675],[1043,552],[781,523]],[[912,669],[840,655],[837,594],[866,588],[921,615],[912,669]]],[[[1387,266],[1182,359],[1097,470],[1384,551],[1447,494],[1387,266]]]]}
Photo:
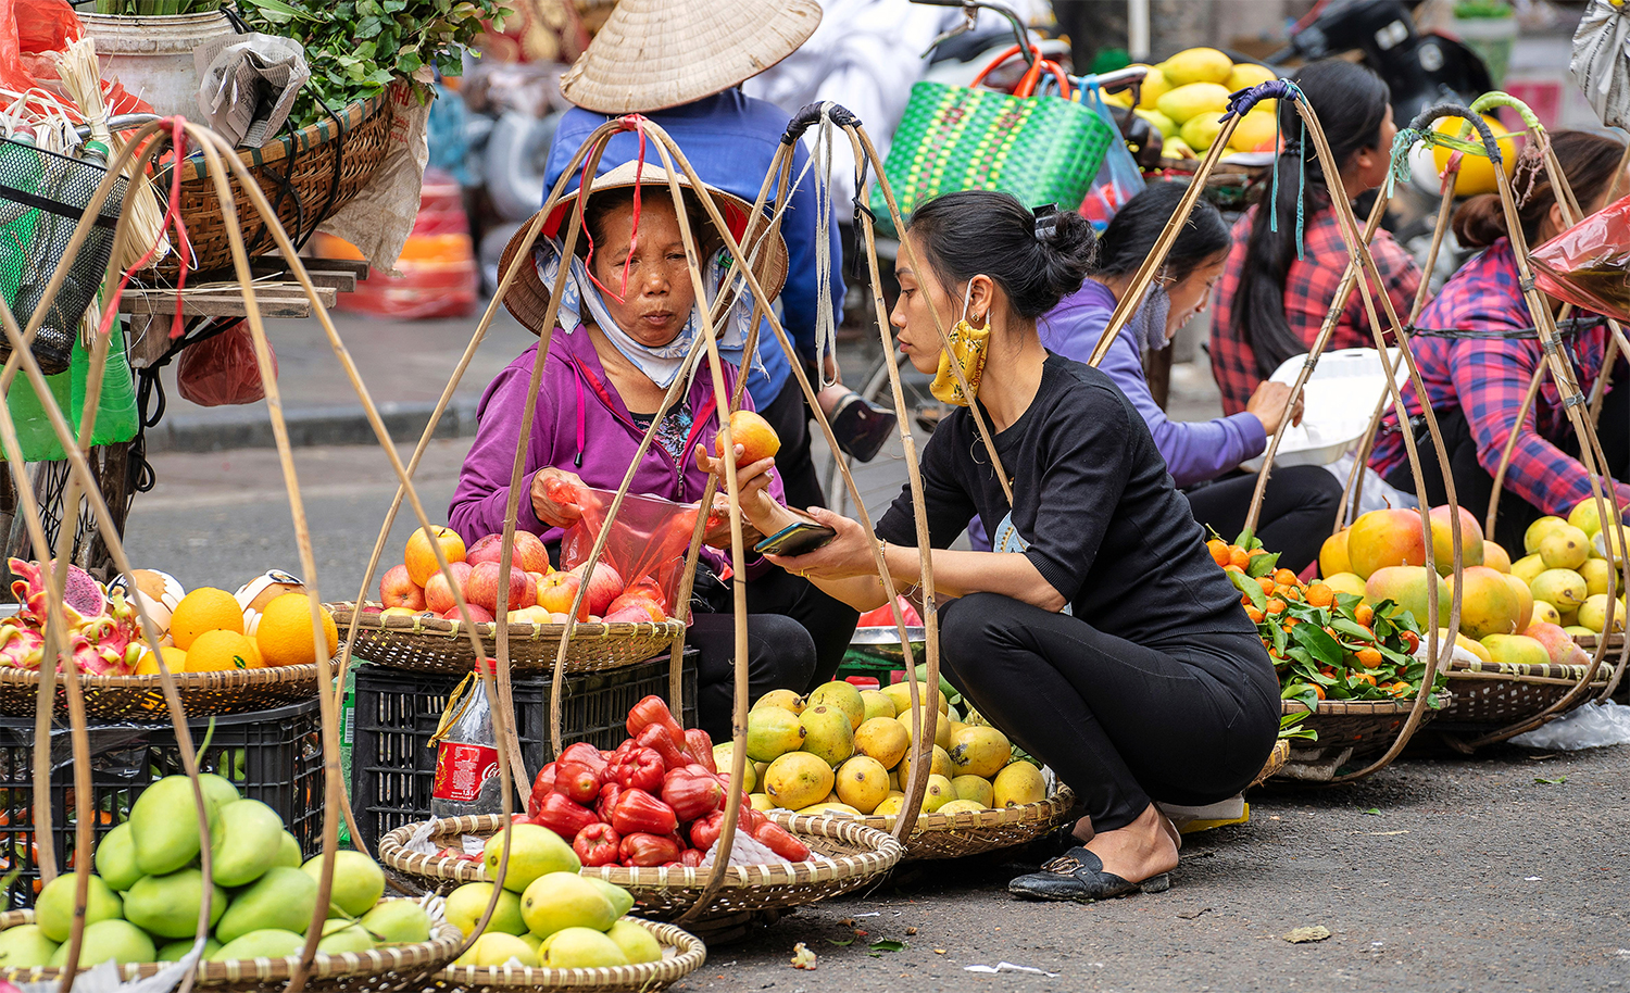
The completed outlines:
{"type": "Polygon", "coordinates": [[[945,677],[1058,773],[1097,832],[1151,801],[1203,805],[1262,771],[1280,688],[1255,634],[1195,634],[1157,651],[999,594],[941,608],[945,677]]]}

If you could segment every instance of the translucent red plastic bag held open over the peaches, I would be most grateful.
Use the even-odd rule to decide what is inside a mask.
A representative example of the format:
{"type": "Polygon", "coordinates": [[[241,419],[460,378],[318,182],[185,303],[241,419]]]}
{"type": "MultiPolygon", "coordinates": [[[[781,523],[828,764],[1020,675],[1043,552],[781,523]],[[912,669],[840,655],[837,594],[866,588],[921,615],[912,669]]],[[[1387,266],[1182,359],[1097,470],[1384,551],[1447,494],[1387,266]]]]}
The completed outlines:
{"type": "MultiPolygon", "coordinates": [[[[569,486],[569,484],[567,484],[569,486]]],[[[595,540],[605,527],[615,492],[575,488],[575,502],[584,517],[561,538],[561,567],[575,569],[588,561],[595,540]]],[[[572,499],[567,496],[566,499],[572,499]]],[[[691,543],[699,504],[676,504],[662,497],[628,494],[618,507],[600,561],[616,569],[618,594],[636,587],[654,592],[663,616],[673,616],[685,572],[685,551],[691,543]]]]}

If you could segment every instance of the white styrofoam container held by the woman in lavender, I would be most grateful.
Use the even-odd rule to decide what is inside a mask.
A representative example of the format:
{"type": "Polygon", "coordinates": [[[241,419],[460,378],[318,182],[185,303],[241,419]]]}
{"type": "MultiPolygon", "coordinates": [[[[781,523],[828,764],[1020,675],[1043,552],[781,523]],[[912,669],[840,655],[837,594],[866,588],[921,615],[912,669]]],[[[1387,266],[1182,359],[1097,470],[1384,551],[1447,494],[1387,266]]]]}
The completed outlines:
{"type": "MultiPolygon", "coordinates": [[[[1397,349],[1387,349],[1390,360],[1399,360],[1397,349]]],[[[1275,383],[1296,385],[1307,355],[1291,355],[1273,375],[1275,383]]],[[[1408,369],[1399,362],[1397,382],[1402,386],[1408,382],[1408,369]]],[[[1340,349],[1319,357],[1319,365],[1302,388],[1302,422],[1284,427],[1284,440],[1273,457],[1273,465],[1330,465],[1348,452],[1358,448],[1369,429],[1369,416],[1376,413],[1376,401],[1387,390],[1387,370],[1381,364],[1381,352],[1376,349],[1340,349]]],[[[1268,439],[1273,445],[1273,439],[1268,439]]],[[[1240,463],[1250,471],[1262,470],[1263,457],[1258,455],[1240,463]]]]}

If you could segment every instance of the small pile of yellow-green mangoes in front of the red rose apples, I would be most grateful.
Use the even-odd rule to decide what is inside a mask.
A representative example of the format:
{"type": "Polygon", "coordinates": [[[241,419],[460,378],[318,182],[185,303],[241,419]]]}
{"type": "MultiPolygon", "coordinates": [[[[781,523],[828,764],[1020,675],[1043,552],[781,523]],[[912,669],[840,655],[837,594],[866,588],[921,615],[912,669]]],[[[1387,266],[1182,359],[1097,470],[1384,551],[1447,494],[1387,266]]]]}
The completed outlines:
{"type": "MultiPolygon", "coordinates": [[[[497,876],[504,836],[494,835],[482,853],[489,876],[497,876]]],[[[510,828],[504,892],[486,931],[455,965],[522,965],[546,969],[605,969],[662,959],[662,946],[628,916],[634,897],[619,885],[579,876],[582,861],[564,838],[536,823],[510,828]]],[[[492,900],[491,882],[466,882],[447,897],[447,921],[466,936],[492,900]]]]}

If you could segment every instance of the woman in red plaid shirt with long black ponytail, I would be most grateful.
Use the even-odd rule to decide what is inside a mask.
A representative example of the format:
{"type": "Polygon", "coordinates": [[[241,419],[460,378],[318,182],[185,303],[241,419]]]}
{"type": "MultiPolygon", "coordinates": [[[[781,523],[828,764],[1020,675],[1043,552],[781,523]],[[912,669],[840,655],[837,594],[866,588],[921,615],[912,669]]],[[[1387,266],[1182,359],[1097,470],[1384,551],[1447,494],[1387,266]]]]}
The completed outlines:
{"type": "MultiPolygon", "coordinates": [[[[1392,135],[1399,130],[1381,77],[1363,65],[1332,59],[1302,68],[1296,85],[1319,114],[1330,150],[1341,163],[1341,194],[1351,201],[1381,186],[1387,178],[1392,135]]],[[[1312,347],[1346,271],[1348,253],[1330,205],[1330,183],[1312,143],[1304,148],[1294,140],[1302,127],[1296,108],[1281,99],[1278,113],[1286,139],[1276,166],[1278,230],[1260,205],[1247,210],[1234,225],[1234,246],[1216,289],[1211,375],[1222,391],[1224,414],[1244,411],[1252,391],[1281,362],[1312,347]],[[1297,248],[1299,192],[1304,232],[1297,248]]],[[[1381,289],[1400,313],[1408,313],[1421,279],[1415,259],[1386,232],[1376,232],[1369,251],[1381,272],[1381,289]]],[[[1348,298],[1327,347],[1376,347],[1359,293],[1348,298]]]]}

